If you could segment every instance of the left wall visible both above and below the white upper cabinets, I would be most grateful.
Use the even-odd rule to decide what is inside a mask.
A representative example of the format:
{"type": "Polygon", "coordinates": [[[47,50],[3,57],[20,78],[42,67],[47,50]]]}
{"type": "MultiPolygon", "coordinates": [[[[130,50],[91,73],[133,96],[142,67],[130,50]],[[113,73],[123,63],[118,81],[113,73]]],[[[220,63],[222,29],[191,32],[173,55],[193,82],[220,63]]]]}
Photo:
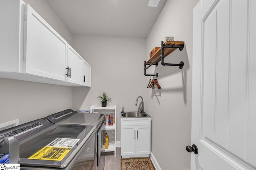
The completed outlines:
{"type": "MultiPolygon", "coordinates": [[[[72,35],[45,0],[24,0],[68,43],[72,35]]],[[[0,123],[20,124],[72,108],[72,87],[0,78],[0,123]]]]}

